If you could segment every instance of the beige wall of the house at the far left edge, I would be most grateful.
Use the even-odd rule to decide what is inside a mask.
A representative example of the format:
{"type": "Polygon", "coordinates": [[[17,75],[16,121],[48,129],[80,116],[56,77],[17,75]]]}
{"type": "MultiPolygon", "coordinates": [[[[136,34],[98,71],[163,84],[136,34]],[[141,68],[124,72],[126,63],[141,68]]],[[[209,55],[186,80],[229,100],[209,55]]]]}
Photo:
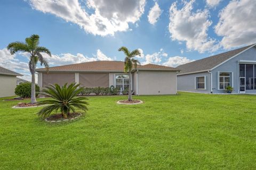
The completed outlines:
{"type": "Polygon", "coordinates": [[[0,75],[0,97],[15,96],[17,79],[14,75],[0,75]]]}

